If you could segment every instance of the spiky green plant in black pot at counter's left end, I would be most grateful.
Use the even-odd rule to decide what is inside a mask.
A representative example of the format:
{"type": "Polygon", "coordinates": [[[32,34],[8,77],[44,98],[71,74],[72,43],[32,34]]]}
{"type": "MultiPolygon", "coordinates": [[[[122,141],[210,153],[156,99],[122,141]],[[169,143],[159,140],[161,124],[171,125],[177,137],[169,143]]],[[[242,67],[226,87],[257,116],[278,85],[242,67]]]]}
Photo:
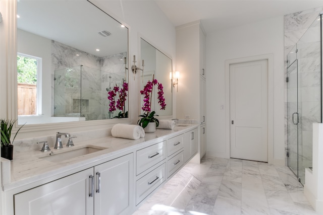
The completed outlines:
{"type": "Polygon", "coordinates": [[[8,160],[13,159],[13,152],[14,152],[14,146],[12,143],[14,142],[17,133],[19,130],[22,128],[22,126],[17,130],[16,135],[14,136],[12,142],[10,140],[11,137],[11,131],[12,128],[17,121],[14,119],[0,119],[0,127],[1,127],[1,135],[0,135],[0,140],[1,140],[1,157],[6,158],[8,160]]]}

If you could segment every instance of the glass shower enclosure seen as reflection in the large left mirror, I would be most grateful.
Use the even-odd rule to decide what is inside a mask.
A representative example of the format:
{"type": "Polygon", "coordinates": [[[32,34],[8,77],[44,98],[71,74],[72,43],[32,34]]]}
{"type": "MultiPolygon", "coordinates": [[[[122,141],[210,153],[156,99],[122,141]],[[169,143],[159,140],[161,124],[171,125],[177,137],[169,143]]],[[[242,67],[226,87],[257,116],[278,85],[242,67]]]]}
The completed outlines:
{"type": "MultiPolygon", "coordinates": [[[[56,70],[54,116],[78,117],[78,121],[117,116],[117,111],[109,111],[107,92],[115,86],[121,87],[125,77],[125,72],[109,73],[85,65],[56,70]]],[[[128,111],[127,104],[125,107],[128,111]]]]}

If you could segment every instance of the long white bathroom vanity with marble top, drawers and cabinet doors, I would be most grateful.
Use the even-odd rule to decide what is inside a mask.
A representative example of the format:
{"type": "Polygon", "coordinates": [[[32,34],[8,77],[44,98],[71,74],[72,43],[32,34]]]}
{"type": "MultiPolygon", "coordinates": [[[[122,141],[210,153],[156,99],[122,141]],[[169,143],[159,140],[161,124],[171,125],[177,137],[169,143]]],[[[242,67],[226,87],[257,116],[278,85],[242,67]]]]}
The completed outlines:
{"type": "Polygon", "coordinates": [[[198,126],[2,159],[6,214],[131,214],[197,154],[198,126]]]}

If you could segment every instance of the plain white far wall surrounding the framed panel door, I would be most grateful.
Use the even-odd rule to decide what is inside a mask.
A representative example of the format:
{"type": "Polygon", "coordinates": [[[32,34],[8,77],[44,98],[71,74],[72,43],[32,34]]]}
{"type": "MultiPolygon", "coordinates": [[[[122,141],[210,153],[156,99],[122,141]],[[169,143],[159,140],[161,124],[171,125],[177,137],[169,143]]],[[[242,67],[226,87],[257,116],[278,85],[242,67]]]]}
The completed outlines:
{"type": "MultiPolygon", "coordinates": [[[[283,16],[206,35],[207,155],[230,157],[227,149],[225,60],[274,55],[274,159],[284,160],[284,20],[283,16]]],[[[284,164],[284,163],[283,163],[284,164]]]]}

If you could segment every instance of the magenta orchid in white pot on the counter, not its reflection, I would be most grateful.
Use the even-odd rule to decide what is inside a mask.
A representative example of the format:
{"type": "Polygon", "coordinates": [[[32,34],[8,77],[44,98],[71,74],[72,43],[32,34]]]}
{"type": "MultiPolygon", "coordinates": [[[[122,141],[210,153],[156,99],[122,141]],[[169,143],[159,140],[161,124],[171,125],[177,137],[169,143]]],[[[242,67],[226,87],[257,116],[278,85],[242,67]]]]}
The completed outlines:
{"type": "Polygon", "coordinates": [[[139,115],[142,117],[138,120],[138,124],[145,129],[145,132],[151,133],[154,132],[156,127],[159,125],[158,119],[156,119],[154,116],[157,116],[155,114],[155,111],[151,111],[151,97],[152,97],[152,91],[153,87],[157,85],[158,86],[158,103],[160,105],[160,110],[165,110],[166,104],[165,104],[165,98],[164,98],[164,91],[163,91],[163,85],[161,83],[158,83],[156,79],[154,79],[154,76],[152,76],[152,82],[148,81],[146,86],[142,91],[140,91],[141,95],[144,95],[144,104],[141,107],[141,109],[144,111],[142,115],[139,115]],[[149,123],[153,126],[152,128],[149,126],[149,123]],[[147,127],[148,126],[148,127],[147,127]]]}

